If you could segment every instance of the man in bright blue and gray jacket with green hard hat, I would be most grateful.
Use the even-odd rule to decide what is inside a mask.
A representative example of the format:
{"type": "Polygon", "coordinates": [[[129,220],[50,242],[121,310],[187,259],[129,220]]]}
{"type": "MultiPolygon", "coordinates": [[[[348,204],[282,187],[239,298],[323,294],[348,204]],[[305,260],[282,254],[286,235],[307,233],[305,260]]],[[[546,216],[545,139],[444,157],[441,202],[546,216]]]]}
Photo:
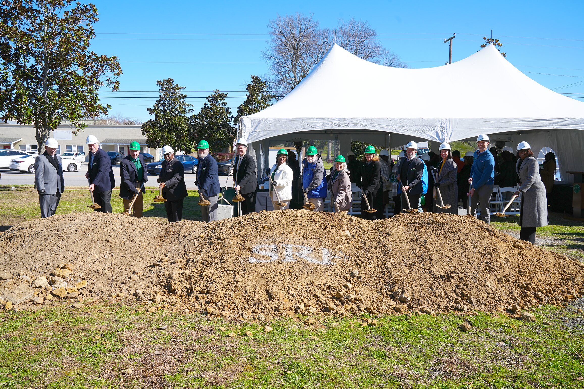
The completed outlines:
{"type": "Polygon", "coordinates": [[[302,176],[302,188],[304,193],[314,205],[314,211],[320,212],[325,208],[326,177],[325,166],[317,148],[310,146],[306,152],[302,164],[304,165],[302,176]]]}

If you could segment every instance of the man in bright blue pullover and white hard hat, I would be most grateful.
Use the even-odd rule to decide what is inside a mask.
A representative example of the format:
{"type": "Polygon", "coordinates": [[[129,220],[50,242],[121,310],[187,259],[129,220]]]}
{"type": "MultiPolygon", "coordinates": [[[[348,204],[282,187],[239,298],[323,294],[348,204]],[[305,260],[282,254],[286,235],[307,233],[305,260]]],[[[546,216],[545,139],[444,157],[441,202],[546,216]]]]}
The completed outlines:
{"type": "Polygon", "coordinates": [[[481,204],[480,220],[485,223],[491,222],[491,210],[489,202],[493,195],[493,182],[495,179],[495,159],[488,146],[491,139],[486,135],[479,135],[477,138],[478,150],[474,152],[474,163],[471,168],[471,177],[468,178],[471,197],[471,213],[477,217],[477,208],[481,204]]]}

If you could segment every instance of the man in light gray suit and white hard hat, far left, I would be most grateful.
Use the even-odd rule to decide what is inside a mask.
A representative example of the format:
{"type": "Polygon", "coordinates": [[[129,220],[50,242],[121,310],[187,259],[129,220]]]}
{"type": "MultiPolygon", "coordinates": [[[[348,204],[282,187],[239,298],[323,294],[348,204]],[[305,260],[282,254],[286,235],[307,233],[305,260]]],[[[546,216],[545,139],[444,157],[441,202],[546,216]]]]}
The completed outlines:
{"type": "Polygon", "coordinates": [[[61,193],[65,190],[61,157],[55,154],[58,147],[55,139],[48,138],[44,153],[34,161],[34,183],[39,191],[41,218],[55,214],[61,193]]]}

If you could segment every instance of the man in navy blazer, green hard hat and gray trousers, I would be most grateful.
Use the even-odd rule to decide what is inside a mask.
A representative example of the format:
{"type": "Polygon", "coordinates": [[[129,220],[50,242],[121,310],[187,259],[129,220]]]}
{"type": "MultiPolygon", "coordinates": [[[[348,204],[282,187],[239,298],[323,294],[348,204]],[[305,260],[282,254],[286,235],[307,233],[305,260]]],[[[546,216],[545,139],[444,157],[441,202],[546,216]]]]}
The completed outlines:
{"type": "Polygon", "coordinates": [[[213,222],[217,220],[217,201],[221,191],[217,161],[209,155],[207,141],[200,141],[197,150],[199,164],[197,165],[197,180],[194,183],[199,187],[199,193],[203,195],[203,198],[211,202],[209,206],[201,206],[203,222],[213,222]]]}

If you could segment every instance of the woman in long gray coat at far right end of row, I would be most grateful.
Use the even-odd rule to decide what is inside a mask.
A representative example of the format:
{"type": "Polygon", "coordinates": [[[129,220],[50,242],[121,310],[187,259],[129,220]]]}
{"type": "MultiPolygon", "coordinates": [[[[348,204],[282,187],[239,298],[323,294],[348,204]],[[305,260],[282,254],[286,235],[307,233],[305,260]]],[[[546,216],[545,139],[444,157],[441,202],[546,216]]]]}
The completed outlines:
{"type": "Polygon", "coordinates": [[[547,199],[545,186],[541,181],[537,159],[533,157],[531,146],[527,142],[517,145],[519,160],[515,170],[519,176],[519,190],[516,196],[521,197],[521,214],[519,239],[536,243],[536,227],[547,226],[547,199]]]}

